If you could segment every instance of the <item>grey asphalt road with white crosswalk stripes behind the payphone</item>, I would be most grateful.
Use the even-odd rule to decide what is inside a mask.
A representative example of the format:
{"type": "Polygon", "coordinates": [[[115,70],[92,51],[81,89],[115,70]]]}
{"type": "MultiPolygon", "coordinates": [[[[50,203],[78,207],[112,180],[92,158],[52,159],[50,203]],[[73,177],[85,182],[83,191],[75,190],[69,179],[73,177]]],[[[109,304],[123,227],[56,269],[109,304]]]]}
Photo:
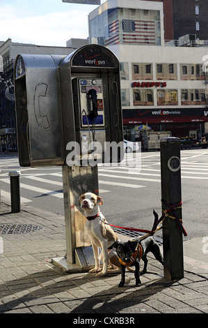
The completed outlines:
{"type": "MultiPolygon", "coordinates": [[[[186,239],[208,236],[208,149],[181,151],[183,222],[186,239]]],[[[8,172],[21,171],[22,203],[64,215],[61,167],[19,167],[17,154],[0,154],[1,196],[10,197],[8,172]]],[[[141,154],[134,173],[127,167],[99,166],[102,213],[109,223],[151,229],[152,211],[161,216],[160,153],[141,154]]],[[[159,232],[160,233],[160,232],[159,232]]]]}

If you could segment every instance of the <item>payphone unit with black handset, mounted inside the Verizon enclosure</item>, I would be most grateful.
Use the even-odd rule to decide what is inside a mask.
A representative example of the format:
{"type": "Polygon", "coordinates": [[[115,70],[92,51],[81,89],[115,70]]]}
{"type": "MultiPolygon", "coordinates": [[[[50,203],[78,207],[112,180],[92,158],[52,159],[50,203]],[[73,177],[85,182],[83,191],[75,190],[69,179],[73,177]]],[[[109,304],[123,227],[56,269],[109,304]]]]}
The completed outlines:
{"type": "MultiPolygon", "coordinates": [[[[102,79],[75,79],[77,84],[78,128],[104,128],[104,92],[102,79]]],[[[75,97],[76,97],[75,96],[75,97]]],[[[75,114],[75,117],[77,115],[75,114]]]]}

